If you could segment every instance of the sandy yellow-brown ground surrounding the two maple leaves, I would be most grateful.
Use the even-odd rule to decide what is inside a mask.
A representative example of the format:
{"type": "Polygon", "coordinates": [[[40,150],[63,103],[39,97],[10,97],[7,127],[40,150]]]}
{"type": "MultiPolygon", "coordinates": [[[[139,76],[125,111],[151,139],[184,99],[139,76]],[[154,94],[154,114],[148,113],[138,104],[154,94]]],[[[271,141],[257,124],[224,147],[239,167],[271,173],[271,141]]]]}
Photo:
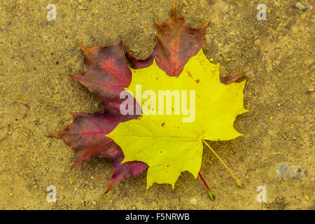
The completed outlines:
{"type": "Polygon", "coordinates": [[[216,194],[209,200],[199,178],[183,173],[175,190],[153,185],[146,172],[104,195],[111,162],[94,158],[69,172],[75,151],[50,134],[73,120],[69,111],[100,111],[97,97],[69,75],[83,69],[83,45],[113,45],[146,58],[155,45],[153,19],[167,22],[172,2],[0,1],[0,209],[314,209],[314,1],[175,1],[192,27],[209,18],[207,57],[221,73],[244,72],[244,133],[211,146],[239,177],[204,148],[201,172],[216,194]],[[48,3],[57,20],[48,21],[48,3]],[[46,201],[48,186],[57,203],[46,201]],[[265,186],[267,202],[256,200],[265,186]]]}

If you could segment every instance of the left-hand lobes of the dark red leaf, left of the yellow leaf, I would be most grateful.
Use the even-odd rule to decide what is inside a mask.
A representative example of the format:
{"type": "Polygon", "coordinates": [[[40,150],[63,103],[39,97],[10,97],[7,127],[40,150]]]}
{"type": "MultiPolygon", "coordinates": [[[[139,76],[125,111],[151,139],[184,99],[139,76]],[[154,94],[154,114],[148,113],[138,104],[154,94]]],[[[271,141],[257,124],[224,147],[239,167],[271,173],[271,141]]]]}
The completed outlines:
{"type": "Polygon", "coordinates": [[[144,162],[127,162],[123,165],[124,155],[120,147],[112,139],[104,137],[120,122],[137,118],[138,116],[122,116],[119,112],[120,92],[131,81],[131,71],[125,62],[123,44],[109,47],[94,46],[87,48],[78,44],[84,50],[84,71],[71,78],[97,94],[102,101],[104,113],[73,113],[73,123],[66,129],[52,134],[66,141],[66,144],[76,149],[77,156],[73,167],[92,157],[110,158],[113,163],[113,176],[106,192],[128,176],[137,176],[146,169],[144,162]]]}

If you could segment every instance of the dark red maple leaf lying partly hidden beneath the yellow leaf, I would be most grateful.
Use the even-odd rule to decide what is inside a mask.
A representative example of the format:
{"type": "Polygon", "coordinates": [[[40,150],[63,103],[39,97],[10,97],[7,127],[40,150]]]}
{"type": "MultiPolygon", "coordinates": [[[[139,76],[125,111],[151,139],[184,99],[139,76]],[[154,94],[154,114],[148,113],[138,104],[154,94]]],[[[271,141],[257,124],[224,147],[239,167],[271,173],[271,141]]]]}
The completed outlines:
{"type": "MultiPolygon", "coordinates": [[[[205,50],[204,35],[208,24],[209,21],[199,29],[189,27],[186,20],[176,13],[174,6],[172,17],[166,25],[156,22],[158,38],[151,57],[137,61],[131,53],[126,55],[131,64],[138,68],[152,64],[157,56],[161,69],[169,76],[178,76],[188,59],[195,55],[200,47],[205,50]]],[[[52,137],[64,139],[66,144],[76,149],[77,156],[73,167],[94,156],[110,158],[113,163],[113,176],[106,191],[108,192],[118,181],[130,175],[137,176],[147,167],[145,163],[137,161],[120,164],[124,158],[120,147],[112,139],[104,138],[118,123],[138,117],[122,116],[119,112],[123,102],[119,94],[130,84],[131,71],[126,66],[123,43],[105,48],[78,45],[84,50],[85,67],[82,74],[71,78],[97,94],[102,101],[104,113],[73,113],[73,123],[65,130],[52,134],[52,137]]],[[[229,84],[242,75],[237,73],[221,77],[221,82],[229,84]]]]}

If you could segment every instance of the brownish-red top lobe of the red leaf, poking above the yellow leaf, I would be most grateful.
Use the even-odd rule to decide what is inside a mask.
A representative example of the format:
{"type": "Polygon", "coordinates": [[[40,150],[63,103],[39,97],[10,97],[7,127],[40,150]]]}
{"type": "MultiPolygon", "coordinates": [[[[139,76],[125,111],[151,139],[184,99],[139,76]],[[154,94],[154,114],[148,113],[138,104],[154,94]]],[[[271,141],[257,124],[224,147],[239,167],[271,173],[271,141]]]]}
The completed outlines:
{"type": "Polygon", "coordinates": [[[132,57],[132,52],[127,52],[127,59],[134,69],[150,66],[155,59],[160,69],[169,76],[179,76],[190,57],[196,55],[200,48],[203,48],[205,52],[204,36],[209,22],[210,20],[202,27],[194,29],[188,25],[184,18],[179,16],[174,5],[171,18],[165,25],[155,20],[156,45],[150,57],[137,60],[132,57]]]}

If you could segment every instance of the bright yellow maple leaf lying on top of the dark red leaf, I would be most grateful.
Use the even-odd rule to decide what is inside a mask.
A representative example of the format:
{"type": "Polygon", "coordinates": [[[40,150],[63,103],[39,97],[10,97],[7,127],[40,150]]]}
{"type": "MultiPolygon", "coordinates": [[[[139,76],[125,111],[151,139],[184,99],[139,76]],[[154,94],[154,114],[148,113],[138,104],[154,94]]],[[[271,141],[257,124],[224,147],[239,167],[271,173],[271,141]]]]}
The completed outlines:
{"type": "MultiPolygon", "coordinates": [[[[195,91],[193,122],[183,122],[185,116],[174,115],[174,105],[168,111],[171,115],[164,114],[160,102],[157,107],[151,95],[144,104],[139,102],[144,111],[141,117],[120,123],[106,135],[123,149],[123,162],[146,162],[147,188],[153,183],[170,183],[174,188],[184,171],[197,178],[204,140],[230,140],[241,135],[233,123],[239,114],[247,111],[243,102],[245,82],[223,85],[219,64],[211,64],[202,50],[190,58],[178,77],[167,76],[155,61],[147,68],[132,69],[132,82],[125,89],[136,92],[137,85],[141,85],[142,91],[195,91]]],[[[193,98],[189,104],[193,105],[193,98]]]]}

